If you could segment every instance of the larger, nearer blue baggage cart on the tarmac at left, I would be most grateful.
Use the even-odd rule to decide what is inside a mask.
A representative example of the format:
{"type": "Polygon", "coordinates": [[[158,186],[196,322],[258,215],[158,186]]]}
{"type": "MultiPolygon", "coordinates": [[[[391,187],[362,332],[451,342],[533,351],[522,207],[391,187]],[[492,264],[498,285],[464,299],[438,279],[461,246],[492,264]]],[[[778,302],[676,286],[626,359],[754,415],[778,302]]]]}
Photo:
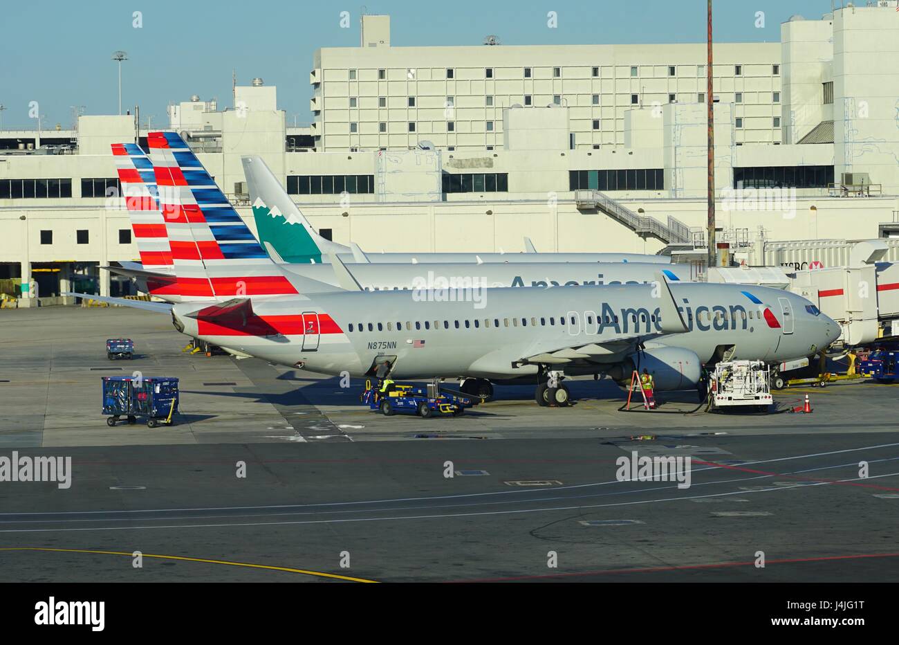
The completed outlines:
{"type": "Polygon", "coordinates": [[[178,379],[168,376],[104,376],[103,414],[109,426],[115,426],[121,417],[129,424],[138,417],[147,418],[147,427],[160,424],[172,425],[178,411],[178,379]]]}

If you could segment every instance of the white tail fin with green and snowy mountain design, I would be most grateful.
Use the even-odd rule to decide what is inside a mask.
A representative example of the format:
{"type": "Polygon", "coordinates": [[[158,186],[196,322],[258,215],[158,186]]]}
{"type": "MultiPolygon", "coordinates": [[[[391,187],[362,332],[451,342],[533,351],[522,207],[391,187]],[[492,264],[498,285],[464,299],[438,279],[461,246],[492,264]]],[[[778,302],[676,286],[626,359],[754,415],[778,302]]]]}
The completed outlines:
{"type": "Polygon", "coordinates": [[[259,239],[291,263],[322,262],[322,255],[352,249],[320,236],[262,157],[242,157],[259,239]]]}

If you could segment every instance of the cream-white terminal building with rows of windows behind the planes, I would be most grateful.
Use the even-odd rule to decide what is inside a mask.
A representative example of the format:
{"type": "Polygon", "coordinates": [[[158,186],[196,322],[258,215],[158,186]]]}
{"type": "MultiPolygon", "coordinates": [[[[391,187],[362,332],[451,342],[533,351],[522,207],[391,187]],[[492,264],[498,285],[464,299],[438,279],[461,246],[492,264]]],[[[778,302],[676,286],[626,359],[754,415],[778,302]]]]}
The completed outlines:
{"type": "MultiPolygon", "coordinates": [[[[737,262],[826,264],[876,237],[899,259],[897,5],[716,43],[717,239],[737,262]]],[[[251,228],[240,157],[254,154],[325,237],[368,252],[511,253],[527,236],[539,251],[704,257],[706,44],[497,42],[395,46],[389,16],[365,15],[360,47],[315,52],[308,125],[256,78],[228,105],[170,106],[165,129],[251,228]]],[[[110,144],[146,136],[133,114],[0,130],[0,292],[129,292],[98,268],[138,259],[110,144]]]]}

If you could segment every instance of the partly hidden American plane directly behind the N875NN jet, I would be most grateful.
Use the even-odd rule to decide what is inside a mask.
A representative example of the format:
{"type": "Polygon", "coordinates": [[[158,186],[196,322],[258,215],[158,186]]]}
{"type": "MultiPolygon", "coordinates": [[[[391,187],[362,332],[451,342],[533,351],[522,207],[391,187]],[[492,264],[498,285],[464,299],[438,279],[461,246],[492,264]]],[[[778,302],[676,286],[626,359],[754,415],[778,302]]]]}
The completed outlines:
{"type": "MultiPolygon", "coordinates": [[[[154,140],[159,140],[155,137],[154,140]]],[[[227,202],[224,194],[202,168],[199,160],[183,144],[180,137],[170,135],[167,143],[178,149],[175,160],[178,170],[190,177],[192,184],[201,187],[207,195],[217,193],[219,202],[227,202]],[[203,184],[197,184],[202,181],[203,184]]],[[[141,264],[121,263],[121,267],[103,267],[113,273],[134,278],[138,289],[167,301],[197,300],[208,294],[195,294],[190,285],[183,283],[183,293],[174,284],[172,275],[171,247],[168,244],[166,219],[159,209],[158,186],[152,162],[141,148],[135,144],[113,144],[112,153],[118,169],[122,195],[125,198],[129,217],[132,221],[135,240],[141,264]]],[[[261,161],[261,160],[260,160],[261,161]]],[[[264,163],[264,162],[262,162],[264,163]]],[[[271,177],[271,175],[270,175],[271,177]]],[[[273,177],[271,177],[274,180],[273,177]]],[[[186,179],[185,179],[186,181],[186,179]]],[[[280,187],[280,184],[278,184],[280,187]]],[[[286,197],[286,194],[284,195],[286,197]]],[[[289,198],[287,198],[289,199],[289,198]]],[[[219,215],[219,218],[221,216],[219,215]]],[[[247,228],[236,212],[229,213],[227,232],[249,242],[253,232],[247,228]]],[[[176,222],[174,227],[177,228],[176,222]]],[[[222,228],[221,226],[219,228],[222,228]]],[[[182,244],[176,242],[175,246],[182,244]]],[[[285,273],[304,276],[321,282],[320,286],[307,284],[307,291],[332,291],[345,288],[339,282],[341,273],[335,273],[327,264],[289,264],[280,258],[271,242],[263,242],[268,255],[275,259],[285,273]]],[[[332,250],[332,252],[334,252],[332,250]]],[[[357,252],[357,255],[360,252],[357,252]]],[[[526,254],[542,258],[541,254],[526,254]]],[[[579,254],[583,255],[583,254],[579,254]]],[[[659,264],[641,262],[513,262],[513,263],[432,263],[418,270],[410,271],[410,264],[354,264],[354,277],[363,289],[409,290],[427,288],[429,285],[474,286],[478,289],[510,286],[562,286],[574,284],[620,284],[645,283],[654,280],[659,264]]],[[[662,269],[670,281],[689,281],[690,267],[684,264],[669,264],[662,269]]],[[[350,287],[352,288],[352,286],[350,287]]]]}

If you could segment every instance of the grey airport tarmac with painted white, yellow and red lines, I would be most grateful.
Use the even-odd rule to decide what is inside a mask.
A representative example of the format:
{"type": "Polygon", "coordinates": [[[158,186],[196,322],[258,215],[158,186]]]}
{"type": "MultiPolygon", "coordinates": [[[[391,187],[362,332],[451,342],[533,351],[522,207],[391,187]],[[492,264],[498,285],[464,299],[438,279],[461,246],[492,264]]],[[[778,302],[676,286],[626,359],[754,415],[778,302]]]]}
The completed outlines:
{"type": "Polygon", "coordinates": [[[690,413],[691,393],[619,411],[621,390],[586,379],[568,381],[571,408],[516,386],[463,417],[383,417],[359,380],[182,353],[162,315],[4,309],[0,330],[0,457],[73,470],[67,489],[0,481],[0,581],[899,574],[894,386],[791,389],[773,414],[719,415],[690,413]],[[118,336],[135,360],[106,359],[118,336]],[[181,379],[176,425],[106,425],[100,377],[135,371],[181,379]],[[786,411],[806,393],[813,414],[786,411]],[[622,480],[635,451],[689,456],[690,487],[622,480]]]}

